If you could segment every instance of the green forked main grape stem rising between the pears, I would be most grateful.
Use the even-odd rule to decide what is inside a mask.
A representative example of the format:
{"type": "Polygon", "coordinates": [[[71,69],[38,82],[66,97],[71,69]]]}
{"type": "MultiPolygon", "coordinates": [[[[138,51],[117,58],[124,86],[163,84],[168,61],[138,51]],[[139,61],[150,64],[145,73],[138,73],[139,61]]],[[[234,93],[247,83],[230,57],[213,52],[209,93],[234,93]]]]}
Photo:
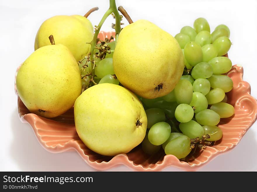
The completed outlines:
{"type": "Polygon", "coordinates": [[[95,34],[94,34],[94,37],[92,39],[92,41],[89,43],[91,45],[91,48],[90,48],[90,62],[93,64],[92,67],[91,67],[91,79],[88,83],[88,86],[91,82],[93,82],[94,84],[96,84],[94,82],[94,77],[95,77],[95,61],[93,60],[93,53],[94,53],[94,49],[95,49],[95,46],[96,46],[96,41],[97,41],[97,37],[98,37],[98,34],[100,32],[100,29],[103,25],[103,23],[105,22],[106,18],[110,15],[110,14],[114,14],[115,15],[115,39],[118,39],[118,36],[119,36],[119,33],[121,31],[121,17],[119,15],[119,12],[117,10],[117,6],[116,6],[116,2],[115,0],[110,0],[110,7],[109,9],[105,12],[105,14],[103,15],[103,18],[100,20],[100,23],[95,26],[95,34]]]}

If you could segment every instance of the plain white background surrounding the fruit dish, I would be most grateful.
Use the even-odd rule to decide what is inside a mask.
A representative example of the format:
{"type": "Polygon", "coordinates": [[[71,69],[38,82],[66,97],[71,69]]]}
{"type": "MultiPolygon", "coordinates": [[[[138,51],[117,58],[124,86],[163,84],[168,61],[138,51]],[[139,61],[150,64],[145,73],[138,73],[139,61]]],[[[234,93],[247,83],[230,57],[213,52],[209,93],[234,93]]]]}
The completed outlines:
{"type": "MultiPolygon", "coordinates": [[[[50,153],[41,147],[29,124],[20,122],[14,92],[16,68],[34,51],[34,39],[41,23],[54,15],[84,15],[90,8],[99,10],[88,19],[98,25],[107,10],[108,0],[0,0],[0,171],[97,171],[76,152],[50,153]]],[[[257,98],[257,1],[121,1],[133,21],[147,19],[175,36],[185,25],[193,26],[196,18],[208,20],[211,32],[223,23],[230,28],[232,46],[229,58],[244,68],[244,80],[257,98]]],[[[110,31],[112,17],[101,30],[110,31]]],[[[127,25],[127,21],[123,22],[127,25]]],[[[257,123],[240,143],[204,165],[199,171],[257,171],[257,123]]],[[[107,171],[131,171],[120,165],[107,171]]],[[[168,167],[164,171],[180,171],[168,167]]]]}

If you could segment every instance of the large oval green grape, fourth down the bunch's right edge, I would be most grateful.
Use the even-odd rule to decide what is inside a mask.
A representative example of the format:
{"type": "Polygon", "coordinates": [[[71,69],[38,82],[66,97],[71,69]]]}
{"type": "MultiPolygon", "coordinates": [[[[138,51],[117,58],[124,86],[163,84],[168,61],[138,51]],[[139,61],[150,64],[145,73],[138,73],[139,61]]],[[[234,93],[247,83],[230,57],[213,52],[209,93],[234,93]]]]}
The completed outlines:
{"type": "Polygon", "coordinates": [[[227,75],[213,74],[208,78],[211,83],[211,87],[223,89],[225,93],[229,92],[233,88],[233,81],[227,75]]]}

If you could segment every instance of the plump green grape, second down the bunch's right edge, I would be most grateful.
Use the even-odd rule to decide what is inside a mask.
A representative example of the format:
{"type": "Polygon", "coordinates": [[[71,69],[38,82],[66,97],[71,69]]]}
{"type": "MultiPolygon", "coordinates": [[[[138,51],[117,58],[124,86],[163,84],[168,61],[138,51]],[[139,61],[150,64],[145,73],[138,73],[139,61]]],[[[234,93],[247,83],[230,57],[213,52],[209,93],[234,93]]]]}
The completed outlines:
{"type": "Polygon", "coordinates": [[[218,51],[217,56],[223,56],[228,53],[228,50],[231,46],[231,41],[228,37],[219,37],[213,42],[213,45],[216,47],[218,51]]]}

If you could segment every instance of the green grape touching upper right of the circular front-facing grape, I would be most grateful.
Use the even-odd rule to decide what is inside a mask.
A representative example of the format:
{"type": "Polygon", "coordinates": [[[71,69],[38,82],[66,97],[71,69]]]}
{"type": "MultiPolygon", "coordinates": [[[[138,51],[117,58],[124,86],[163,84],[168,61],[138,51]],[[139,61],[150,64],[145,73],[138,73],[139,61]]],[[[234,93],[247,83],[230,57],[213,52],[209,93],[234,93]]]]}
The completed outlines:
{"type": "Polygon", "coordinates": [[[194,92],[190,106],[195,108],[194,113],[198,113],[199,111],[207,109],[208,101],[202,93],[194,92]]]}

